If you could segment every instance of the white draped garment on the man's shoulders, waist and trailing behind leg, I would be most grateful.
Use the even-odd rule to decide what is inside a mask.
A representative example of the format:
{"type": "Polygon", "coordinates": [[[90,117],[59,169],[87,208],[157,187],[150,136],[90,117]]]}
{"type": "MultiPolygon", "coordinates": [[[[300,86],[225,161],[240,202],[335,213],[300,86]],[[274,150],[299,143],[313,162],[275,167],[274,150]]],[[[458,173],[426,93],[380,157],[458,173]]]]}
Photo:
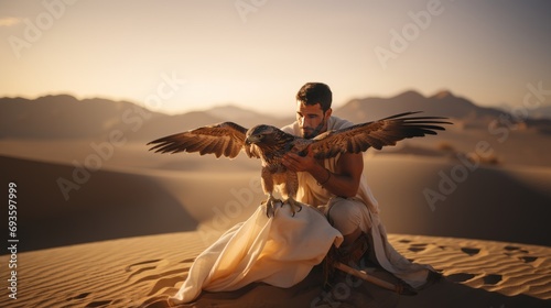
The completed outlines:
{"type": "MultiPolygon", "coordinates": [[[[352,122],[331,117],[327,121],[327,130],[339,130],[353,125],[352,122]]],[[[300,135],[301,130],[298,122],[282,128],[287,133],[300,135]]],[[[338,156],[324,161],[324,166],[332,173],[336,173],[338,156]]],[[[331,208],[332,202],[339,201],[329,191],[317,185],[317,182],[309,173],[299,173],[299,191],[296,199],[301,202],[309,204],[314,207],[325,208],[325,211],[331,208]]],[[[361,175],[358,193],[356,197],[350,198],[354,201],[359,201],[365,205],[360,207],[361,219],[359,228],[366,233],[370,233],[374,241],[374,251],[379,264],[401,278],[410,286],[419,288],[426,283],[429,271],[432,271],[430,265],[411,263],[388,242],[387,231],[379,218],[379,205],[367,185],[365,175],[361,175]]]]}

